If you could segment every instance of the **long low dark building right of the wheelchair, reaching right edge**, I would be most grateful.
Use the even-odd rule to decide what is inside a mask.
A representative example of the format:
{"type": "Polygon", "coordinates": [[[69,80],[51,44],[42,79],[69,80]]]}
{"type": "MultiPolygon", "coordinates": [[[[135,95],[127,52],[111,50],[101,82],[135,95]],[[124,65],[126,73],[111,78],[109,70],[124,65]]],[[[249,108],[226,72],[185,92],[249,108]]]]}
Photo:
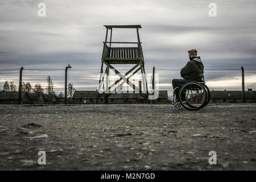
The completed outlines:
{"type": "MultiPolygon", "coordinates": [[[[245,91],[245,102],[256,102],[256,91],[245,91]]],[[[242,103],[242,91],[210,91],[209,103],[242,103]]]]}

